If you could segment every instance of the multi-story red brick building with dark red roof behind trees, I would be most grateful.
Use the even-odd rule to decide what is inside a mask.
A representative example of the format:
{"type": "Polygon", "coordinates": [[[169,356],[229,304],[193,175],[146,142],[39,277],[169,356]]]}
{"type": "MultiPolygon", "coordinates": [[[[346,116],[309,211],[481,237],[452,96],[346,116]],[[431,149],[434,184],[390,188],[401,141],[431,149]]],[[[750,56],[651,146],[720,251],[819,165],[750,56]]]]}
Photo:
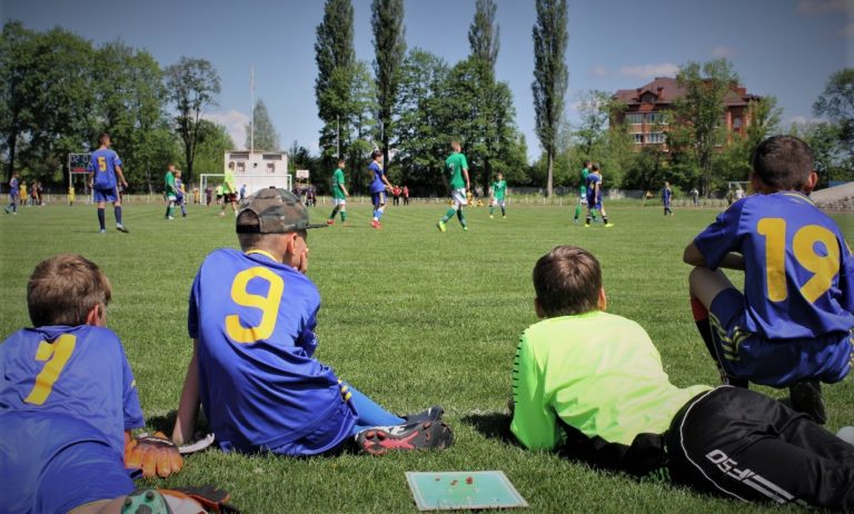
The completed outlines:
{"type": "MultiPolygon", "coordinates": [[[[613,123],[626,123],[637,149],[646,145],[663,145],[667,139],[667,111],[685,90],[676,79],[657,77],[636,89],[620,89],[612,98],[626,105],[613,123]]],[[[733,86],[724,97],[724,119],[721,120],[728,134],[742,134],[751,123],[747,106],[761,97],[751,95],[746,88],[733,86]]]]}

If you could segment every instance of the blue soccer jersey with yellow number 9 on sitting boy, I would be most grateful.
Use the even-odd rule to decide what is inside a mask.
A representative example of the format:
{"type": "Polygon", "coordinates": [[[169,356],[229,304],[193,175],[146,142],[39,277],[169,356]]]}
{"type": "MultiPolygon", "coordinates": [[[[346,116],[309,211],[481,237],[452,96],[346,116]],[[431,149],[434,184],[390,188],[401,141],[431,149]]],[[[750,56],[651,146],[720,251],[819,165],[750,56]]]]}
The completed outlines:
{"type": "Polygon", "coordinates": [[[312,358],[319,307],[311,280],[267,254],[218,249],[205,259],[188,328],[198,339],[199,395],[222,449],[302,441],[295,453],[310,455],[349,436],[354,408],[335,373],[312,358]]]}

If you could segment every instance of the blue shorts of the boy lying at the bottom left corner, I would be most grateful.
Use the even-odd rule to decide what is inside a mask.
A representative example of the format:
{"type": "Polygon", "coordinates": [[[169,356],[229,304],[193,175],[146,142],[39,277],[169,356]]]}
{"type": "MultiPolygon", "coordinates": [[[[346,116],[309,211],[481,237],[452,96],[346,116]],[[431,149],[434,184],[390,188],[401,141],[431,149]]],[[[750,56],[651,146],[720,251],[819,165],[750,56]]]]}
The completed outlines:
{"type": "Polygon", "coordinates": [[[0,414],[0,476],[2,512],[68,512],[133,491],[107,437],[58,413],[0,414]]]}

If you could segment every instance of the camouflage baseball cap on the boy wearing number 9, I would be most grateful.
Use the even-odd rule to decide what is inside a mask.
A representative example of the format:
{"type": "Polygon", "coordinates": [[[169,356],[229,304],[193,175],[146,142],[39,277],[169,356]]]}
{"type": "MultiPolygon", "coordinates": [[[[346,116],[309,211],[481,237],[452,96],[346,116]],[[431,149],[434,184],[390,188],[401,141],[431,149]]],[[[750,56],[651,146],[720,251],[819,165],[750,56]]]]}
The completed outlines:
{"type": "Polygon", "coordinates": [[[258,216],[258,225],[237,225],[238,233],[285,234],[309,228],[322,228],[325,224],[308,223],[308,209],[299,198],[285,189],[270,187],[250,195],[240,202],[237,219],[245,211],[258,216]]]}

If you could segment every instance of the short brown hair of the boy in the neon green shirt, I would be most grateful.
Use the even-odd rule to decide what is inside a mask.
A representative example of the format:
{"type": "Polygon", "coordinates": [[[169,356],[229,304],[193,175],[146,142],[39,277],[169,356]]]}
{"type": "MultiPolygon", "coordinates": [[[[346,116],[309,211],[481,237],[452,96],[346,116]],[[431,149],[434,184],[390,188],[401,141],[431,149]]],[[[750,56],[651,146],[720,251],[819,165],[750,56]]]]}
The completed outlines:
{"type": "Polygon", "coordinates": [[[534,266],[534,290],[547,317],[584,314],[598,308],[602,268],[589,251],[558,246],[534,266]]]}

